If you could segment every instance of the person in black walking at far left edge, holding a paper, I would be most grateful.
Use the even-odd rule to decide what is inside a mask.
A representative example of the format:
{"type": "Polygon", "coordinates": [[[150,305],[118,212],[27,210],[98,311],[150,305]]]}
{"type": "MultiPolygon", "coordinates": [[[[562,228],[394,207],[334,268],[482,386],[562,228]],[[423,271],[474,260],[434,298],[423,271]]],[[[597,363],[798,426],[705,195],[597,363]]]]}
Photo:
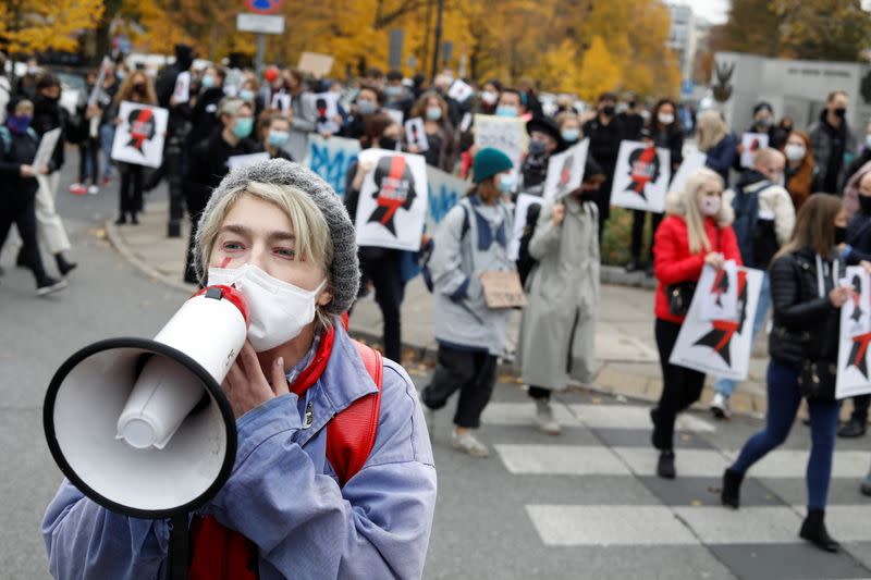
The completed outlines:
{"type": "MultiPolygon", "coordinates": [[[[36,225],[36,196],[39,184],[37,173],[48,173],[48,168],[33,166],[39,137],[29,126],[34,104],[27,99],[13,97],[7,102],[5,123],[0,127],[0,249],[5,244],[14,223],[24,245],[22,257],[36,279],[36,293],[45,296],[66,286],[66,281],[46,273],[36,225]]],[[[61,272],[64,275],[65,272],[61,272]]]]}

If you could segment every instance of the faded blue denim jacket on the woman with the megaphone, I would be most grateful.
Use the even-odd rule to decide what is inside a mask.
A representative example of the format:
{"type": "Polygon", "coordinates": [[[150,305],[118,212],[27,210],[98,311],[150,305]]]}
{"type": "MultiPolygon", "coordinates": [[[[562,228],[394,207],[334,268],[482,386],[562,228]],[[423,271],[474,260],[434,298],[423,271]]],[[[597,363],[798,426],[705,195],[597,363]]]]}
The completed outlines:
{"type": "MultiPolygon", "coordinates": [[[[420,578],[436,506],[436,468],[414,384],[384,361],[381,418],[364,468],[340,489],[326,458],[323,427],[376,391],[354,345],[336,329],[320,380],[236,421],[232,476],[200,509],[259,548],[260,578],[420,578]],[[314,421],[303,429],[311,403],[314,421]]],[[[64,480],[42,534],[59,579],[160,579],[167,575],[168,520],[122,516],[64,480]]]]}

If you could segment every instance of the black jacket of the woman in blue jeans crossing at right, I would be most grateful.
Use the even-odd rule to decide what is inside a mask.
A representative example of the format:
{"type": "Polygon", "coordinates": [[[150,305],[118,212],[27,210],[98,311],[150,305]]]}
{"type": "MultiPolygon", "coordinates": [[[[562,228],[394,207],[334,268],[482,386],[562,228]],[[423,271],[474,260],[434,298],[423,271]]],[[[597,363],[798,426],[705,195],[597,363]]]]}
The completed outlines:
{"type": "MultiPolygon", "coordinates": [[[[845,273],[838,263],[838,276],[845,273]]],[[[774,326],[769,336],[771,358],[800,369],[806,360],[837,360],[841,312],[829,293],[835,285],[832,259],[822,261],[824,292],[820,296],[815,252],[811,248],[781,256],[771,267],[774,326]]]]}

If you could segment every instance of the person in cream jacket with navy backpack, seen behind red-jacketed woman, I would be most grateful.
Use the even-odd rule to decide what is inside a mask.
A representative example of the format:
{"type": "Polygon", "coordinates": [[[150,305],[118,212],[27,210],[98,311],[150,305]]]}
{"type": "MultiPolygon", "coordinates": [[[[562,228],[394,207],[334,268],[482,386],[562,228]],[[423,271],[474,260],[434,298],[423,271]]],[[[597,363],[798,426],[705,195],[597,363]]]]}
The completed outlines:
{"type": "MultiPolygon", "coordinates": [[[[785,164],[786,159],[778,150],[760,149],[753,158],[753,166],[745,170],[734,188],[723,195],[723,202],[732,206],[735,212],[732,227],[744,266],[762,271],[752,336],[759,334],[771,307],[771,260],[789,240],[796,224],[793,200],[783,187],[785,164]]],[[[729,417],[728,402],[737,385],[732,379],[720,378],[714,382],[710,410],[717,419],[729,417]]]]}

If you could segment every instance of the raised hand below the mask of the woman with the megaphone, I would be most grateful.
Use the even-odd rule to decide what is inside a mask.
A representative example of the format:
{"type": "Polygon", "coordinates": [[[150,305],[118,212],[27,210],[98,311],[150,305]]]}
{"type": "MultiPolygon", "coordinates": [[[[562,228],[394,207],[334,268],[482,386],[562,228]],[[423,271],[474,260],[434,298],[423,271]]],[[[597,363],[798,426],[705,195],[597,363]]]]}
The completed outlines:
{"type": "Polygon", "coordinates": [[[223,388],[230,406],[233,407],[236,419],[263,403],[291,392],[284,374],[282,357],[272,361],[270,374],[272,377],[267,380],[260,368],[260,361],[257,360],[257,353],[254,351],[252,343],[245,341],[242,353],[230,367],[224,382],[221,383],[221,388],[223,388]]]}

